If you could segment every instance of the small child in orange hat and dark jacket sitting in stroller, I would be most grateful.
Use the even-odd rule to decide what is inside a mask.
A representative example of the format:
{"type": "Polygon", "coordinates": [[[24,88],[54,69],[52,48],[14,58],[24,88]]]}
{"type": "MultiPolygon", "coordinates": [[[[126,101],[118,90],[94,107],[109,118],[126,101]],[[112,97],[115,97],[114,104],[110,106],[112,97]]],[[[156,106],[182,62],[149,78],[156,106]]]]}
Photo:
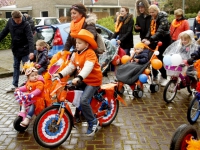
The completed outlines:
{"type": "Polygon", "coordinates": [[[133,52],[131,52],[131,61],[135,61],[139,64],[145,64],[149,61],[149,49],[147,49],[144,43],[140,42],[134,46],[133,52]]]}

